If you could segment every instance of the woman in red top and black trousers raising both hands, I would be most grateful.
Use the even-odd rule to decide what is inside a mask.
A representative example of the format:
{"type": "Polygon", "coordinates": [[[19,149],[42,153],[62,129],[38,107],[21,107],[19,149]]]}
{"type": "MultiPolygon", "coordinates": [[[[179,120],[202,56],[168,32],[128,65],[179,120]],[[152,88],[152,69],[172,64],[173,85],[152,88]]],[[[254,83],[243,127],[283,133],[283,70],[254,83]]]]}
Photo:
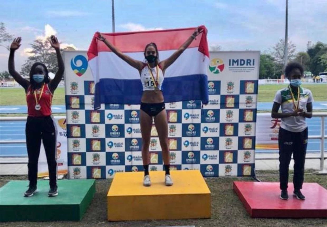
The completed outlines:
{"type": "Polygon", "coordinates": [[[53,92],[56,90],[63,72],[64,64],[60,54],[58,39],[51,36],[51,46],[55,49],[58,59],[58,72],[50,80],[48,69],[43,63],[34,63],[29,73],[29,80],[24,79],[16,70],[14,53],[21,46],[22,38],[15,38],[10,45],[8,68],[10,75],[25,90],[27,102],[26,122],[26,147],[28,155],[28,180],[29,186],[24,196],[30,197],[37,192],[38,160],[40,155],[41,140],[48,163],[50,190],[48,196],[58,195],[57,186],[57,129],[51,115],[51,102],[53,92]]]}

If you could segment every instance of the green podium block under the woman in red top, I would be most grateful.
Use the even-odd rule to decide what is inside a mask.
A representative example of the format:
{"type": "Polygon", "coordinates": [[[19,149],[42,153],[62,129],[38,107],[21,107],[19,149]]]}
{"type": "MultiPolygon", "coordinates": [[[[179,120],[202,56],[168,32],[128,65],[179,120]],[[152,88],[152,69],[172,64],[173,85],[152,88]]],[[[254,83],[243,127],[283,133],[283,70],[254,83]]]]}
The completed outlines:
{"type": "Polygon", "coordinates": [[[27,180],[0,188],[0,221],[79,221],[95,194],[94,179],[58,180],[58,196],[48,197],[49,181],[39,180],[38,192],[24,197],[27,180]]]}

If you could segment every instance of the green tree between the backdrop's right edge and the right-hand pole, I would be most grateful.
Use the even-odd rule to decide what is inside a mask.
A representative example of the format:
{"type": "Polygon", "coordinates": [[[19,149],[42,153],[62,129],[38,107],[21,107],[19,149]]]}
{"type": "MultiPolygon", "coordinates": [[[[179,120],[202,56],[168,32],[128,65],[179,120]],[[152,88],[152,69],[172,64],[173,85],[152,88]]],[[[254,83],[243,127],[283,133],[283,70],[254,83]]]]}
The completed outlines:
{"type": "Polygon", "coordinates": [[[270,54],[260,55],[259,79],[277,79],[282,73],[282,67],[275,62],[270,54]]]}

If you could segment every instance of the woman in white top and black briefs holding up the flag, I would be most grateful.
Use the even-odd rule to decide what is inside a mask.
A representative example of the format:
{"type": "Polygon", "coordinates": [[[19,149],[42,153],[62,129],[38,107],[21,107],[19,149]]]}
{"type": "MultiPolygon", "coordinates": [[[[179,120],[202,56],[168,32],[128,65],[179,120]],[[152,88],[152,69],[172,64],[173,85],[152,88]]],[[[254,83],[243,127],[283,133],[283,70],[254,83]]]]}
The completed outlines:
{"type": "Polygon", "coordinates": [[[141,99],[140,123],[142,133],[142,160],[144,167],[144,186],[151,186],[149,176],[149,145],[152,128],[152,118],[158,131],[160,145],[163,153],[163,163],[165,168],[165,185],[173,185],[169,172],[169,147],[168,147],[168,120],[165,110],[164,97],[161,91],[165,70],[173,64],[181,53],[192,43],[197,35],[202,32],[199,27],[194,33],[174,52],[169,58],[159,61],[159,52],[155,43],[149,43],[144,50],[145,63],[132,59],[128,55],[118,50],[101,33],[97,37],[104,42],[112,52],[123,59],[140,73],[143,85],[143,95],[141,99]]]}

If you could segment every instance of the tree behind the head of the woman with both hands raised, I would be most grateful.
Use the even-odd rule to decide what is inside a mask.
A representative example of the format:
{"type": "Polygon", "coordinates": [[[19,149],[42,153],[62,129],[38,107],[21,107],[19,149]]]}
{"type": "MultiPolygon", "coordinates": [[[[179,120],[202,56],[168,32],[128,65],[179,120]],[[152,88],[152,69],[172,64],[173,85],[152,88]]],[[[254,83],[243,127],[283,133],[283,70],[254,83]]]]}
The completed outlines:
{"type": "Polygon", "coordinates": [[[29,77],[32,65],[36,62],[41,62],[45,64],[49,72],[56,74],[58,71],[57,55],[50,45],[50,37],[47,37],[46,40],[35,39],[30,45],[32,50],[27,53],[32,54],[32,56],[27,58],[20,73],[25,77],[29,77]]]}

